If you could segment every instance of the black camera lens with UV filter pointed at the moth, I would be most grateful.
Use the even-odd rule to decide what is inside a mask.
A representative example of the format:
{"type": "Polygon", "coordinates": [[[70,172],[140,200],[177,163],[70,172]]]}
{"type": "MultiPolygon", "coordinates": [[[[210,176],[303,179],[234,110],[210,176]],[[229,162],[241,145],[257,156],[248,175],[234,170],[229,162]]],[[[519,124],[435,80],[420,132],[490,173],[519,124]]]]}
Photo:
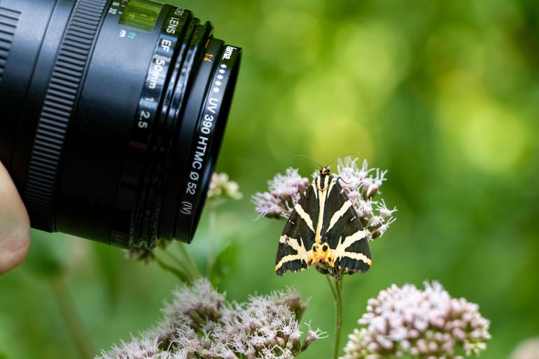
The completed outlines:
{"type": "Polygon", "coordinates": [[[240,60],[183,8],[0,0],[0,160],[32,227],[190,242],[240,60]]]}

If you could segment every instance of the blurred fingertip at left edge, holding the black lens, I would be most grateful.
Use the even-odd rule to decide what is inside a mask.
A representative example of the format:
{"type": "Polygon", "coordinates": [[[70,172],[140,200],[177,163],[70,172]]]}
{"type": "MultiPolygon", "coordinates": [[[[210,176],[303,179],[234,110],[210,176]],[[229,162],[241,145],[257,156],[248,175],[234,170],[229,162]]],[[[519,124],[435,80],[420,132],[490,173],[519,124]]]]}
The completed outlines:
{"type": "Polygon", "coordinates": [[[30,248],[30,220],[15,184],[0,163],[0,274],[25,260],[30,248]]]}

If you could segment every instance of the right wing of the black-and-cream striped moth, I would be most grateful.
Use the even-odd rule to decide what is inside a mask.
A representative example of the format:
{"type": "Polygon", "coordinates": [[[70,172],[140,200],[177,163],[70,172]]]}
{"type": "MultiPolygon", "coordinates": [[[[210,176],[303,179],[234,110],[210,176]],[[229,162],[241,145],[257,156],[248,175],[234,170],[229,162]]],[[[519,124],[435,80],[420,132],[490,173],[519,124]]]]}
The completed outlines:
{"type": "Polygon", "coordinates": [[[322,242],[327,242],[333,250],[333,267],[351,273],[367,272],[372,264],[368,232],[335,176],[331,178],[327,196],[322,242]]]}

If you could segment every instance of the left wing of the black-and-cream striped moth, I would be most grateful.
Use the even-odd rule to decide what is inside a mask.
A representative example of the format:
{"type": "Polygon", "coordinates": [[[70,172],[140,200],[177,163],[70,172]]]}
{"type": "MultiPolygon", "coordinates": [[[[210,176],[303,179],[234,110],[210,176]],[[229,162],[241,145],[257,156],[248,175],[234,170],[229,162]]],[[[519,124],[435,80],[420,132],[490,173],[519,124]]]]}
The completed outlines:
{"type": "Polygon", "coordinates": [[[302,271],[310,265],[311,248],[314,244],[314,222],[311,214],[318,213],[318,199],[314,188],[316,185],[313,182],[305,190],[279,239],[275,260],[275,272],[279,276],[285,272],[302,271]]]}

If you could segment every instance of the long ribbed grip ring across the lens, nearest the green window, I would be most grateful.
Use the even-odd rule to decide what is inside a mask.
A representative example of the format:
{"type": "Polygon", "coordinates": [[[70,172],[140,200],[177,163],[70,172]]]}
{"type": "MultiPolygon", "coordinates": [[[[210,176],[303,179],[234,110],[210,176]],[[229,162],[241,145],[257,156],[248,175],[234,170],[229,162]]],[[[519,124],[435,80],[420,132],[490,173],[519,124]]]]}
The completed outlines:
{"type": "Polygon", "coordinates": [[[107,2],[76,1],[59,46],[38,120],[25,191],[31,225],[39,230],[55,230],[52,208],[69,120],[107,2]]]}

